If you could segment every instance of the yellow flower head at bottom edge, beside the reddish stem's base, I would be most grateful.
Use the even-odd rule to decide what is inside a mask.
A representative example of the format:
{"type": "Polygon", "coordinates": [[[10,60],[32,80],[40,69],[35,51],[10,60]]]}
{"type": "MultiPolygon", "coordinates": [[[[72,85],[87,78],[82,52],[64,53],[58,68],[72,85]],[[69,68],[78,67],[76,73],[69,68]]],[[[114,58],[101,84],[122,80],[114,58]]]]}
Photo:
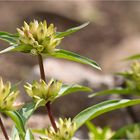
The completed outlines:
{"type": "Polygon", "coordinates": [[[71,119],[59,119],[57,122],[57,132],[52,127],[49,127],[46,131],[47,138],[44,140],[71,140],[75,131],[76,123],[72,122],[71,119]]]}

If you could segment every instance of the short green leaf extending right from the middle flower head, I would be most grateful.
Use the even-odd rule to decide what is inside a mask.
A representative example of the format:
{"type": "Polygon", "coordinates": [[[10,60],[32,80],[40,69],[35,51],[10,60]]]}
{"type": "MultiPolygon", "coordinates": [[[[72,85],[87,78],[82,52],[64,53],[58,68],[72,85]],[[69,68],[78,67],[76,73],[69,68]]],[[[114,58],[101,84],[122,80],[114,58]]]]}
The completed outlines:
{"type": "Polygon", "coordinates": [[[57,98],[78,91],[91,92],[92,89],[81,85],[63,85],[58,93],[57,98]]]}

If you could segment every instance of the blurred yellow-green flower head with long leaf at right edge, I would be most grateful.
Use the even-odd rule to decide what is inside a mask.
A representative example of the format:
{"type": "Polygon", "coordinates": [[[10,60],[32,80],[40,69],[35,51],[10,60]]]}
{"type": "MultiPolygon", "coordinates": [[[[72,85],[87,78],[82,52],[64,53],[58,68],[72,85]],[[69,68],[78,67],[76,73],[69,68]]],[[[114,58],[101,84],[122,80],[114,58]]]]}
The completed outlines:
{"type": "Polygon", "coordinates": [[[123,87],[117,87],[113,89],[107,89],[103,91],[96,92],[91,94],[89,97],[94,97],[98,95],[106,94],[120,94],[120,95],[140,95],[140,62],[135,61],[131,64],[130,69],[117,73],[117,75],[122,76],[124,82],[123,87]]]}

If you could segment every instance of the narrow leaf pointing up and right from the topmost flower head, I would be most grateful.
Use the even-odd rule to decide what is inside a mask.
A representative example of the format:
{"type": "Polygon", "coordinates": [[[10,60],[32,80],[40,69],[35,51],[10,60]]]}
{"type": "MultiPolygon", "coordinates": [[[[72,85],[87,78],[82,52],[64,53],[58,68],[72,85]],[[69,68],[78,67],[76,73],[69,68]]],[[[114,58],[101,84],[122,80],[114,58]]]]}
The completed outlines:
{"type": "Polygon", "coordinates": [[[86,22],[86,23],[84,23],[84,24],[82,24],[80,26],[70,28],[70,29],[68,29],[68,30],[66,30],[64,32],[57,32],[56,33],[56,38],[62,38],[62,37],[68,36],[68,35],[70,35],[72,33],[75,33],[77,31],[81,30],[82,28],[86,27],[88,24],[89,24],[89,22],[86,22]]]}

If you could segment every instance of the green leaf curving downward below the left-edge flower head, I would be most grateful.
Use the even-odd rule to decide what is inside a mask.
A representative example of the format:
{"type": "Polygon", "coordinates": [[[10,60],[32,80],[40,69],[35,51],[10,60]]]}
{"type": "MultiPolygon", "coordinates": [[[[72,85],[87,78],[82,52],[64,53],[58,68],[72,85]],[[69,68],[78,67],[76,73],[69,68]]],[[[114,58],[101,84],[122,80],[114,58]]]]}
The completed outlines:
{"type": "Polygon", "coordinates": [[[17,111],[5,111],[4,113],[13,120],[17,130],[19,131],[19,134],[22,138],[24,138],[25,128],[20,114],[17,111]]]}

